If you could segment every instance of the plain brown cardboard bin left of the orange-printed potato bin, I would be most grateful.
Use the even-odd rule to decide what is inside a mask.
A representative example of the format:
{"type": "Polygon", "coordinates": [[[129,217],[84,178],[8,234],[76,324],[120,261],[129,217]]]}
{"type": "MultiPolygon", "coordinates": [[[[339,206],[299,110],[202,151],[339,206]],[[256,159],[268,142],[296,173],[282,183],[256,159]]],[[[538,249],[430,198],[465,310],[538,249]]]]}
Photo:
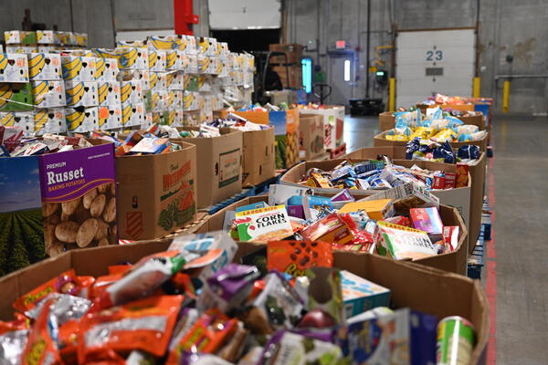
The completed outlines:
{"type": "Polygon", "coordinates": [[[274,129],[243,132],[242,184],[258,185],[274,177],[274,129]]]}

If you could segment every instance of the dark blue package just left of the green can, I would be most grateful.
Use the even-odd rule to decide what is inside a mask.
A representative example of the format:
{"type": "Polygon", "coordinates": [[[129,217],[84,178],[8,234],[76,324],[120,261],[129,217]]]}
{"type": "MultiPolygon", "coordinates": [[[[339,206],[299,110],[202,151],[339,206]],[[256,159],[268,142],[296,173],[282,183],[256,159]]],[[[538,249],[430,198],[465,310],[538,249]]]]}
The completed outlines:
{"type": "Polygon", "coordinates": [[[411,310],[409,334],[411,337],[411,365],[436,364],[437,318],[411,310]]]}

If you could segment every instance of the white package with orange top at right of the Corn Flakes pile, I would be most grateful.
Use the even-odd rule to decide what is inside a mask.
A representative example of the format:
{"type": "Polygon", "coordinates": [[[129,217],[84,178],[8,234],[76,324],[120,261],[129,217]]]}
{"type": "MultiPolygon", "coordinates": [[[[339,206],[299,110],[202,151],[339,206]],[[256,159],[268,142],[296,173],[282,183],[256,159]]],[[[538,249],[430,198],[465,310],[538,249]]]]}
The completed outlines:
{"type": "Polygon", "coordinates": [[[385,250],[395,260],[416,260],[437,255],[437,249],[426,232],[382,221],[378,225],[382,247],[377,245],[377,249],[381,255],[385,254],[385,250]]]}

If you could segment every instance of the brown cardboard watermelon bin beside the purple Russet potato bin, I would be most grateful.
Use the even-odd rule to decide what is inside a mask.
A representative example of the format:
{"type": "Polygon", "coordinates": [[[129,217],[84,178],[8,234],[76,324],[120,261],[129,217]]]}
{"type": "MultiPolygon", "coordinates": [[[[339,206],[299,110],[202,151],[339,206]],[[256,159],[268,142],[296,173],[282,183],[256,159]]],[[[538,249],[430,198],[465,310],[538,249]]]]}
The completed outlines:
{"type": "Polygon", "coordinates": [[[120,237],[143,240],[169,235],[195,219],[196,147],[116,158],[120,237]]]}

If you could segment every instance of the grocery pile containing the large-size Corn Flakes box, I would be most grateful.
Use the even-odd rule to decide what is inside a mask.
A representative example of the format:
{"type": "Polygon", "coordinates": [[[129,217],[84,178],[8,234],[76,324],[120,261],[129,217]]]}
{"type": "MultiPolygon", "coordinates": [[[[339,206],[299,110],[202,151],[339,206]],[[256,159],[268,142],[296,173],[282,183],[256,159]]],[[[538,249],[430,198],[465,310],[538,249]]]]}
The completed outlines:
{"type": "Polygon", "coordinates": [[[271,185],[269,203],[227,211],[223,227],[237,241],[321,241],[333,249],[396,260],[421,259],[458,248],[459,228],[443,223],[435,196],[413,183],[394,190],[356,201],[346,189],[325,197],[312,195],[307,188],[271,185]]]}

